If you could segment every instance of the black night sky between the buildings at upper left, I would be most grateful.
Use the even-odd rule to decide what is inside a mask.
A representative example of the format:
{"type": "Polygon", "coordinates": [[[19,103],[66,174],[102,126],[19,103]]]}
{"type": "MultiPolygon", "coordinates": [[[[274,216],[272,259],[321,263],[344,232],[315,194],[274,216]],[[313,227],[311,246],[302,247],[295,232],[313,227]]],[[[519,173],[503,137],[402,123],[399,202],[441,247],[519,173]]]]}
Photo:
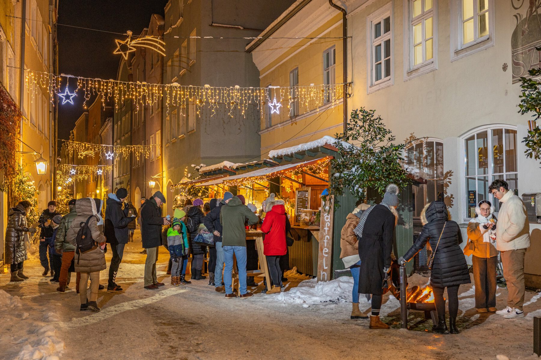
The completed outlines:
{"type": "MultiPolygon", "coordinates": [[[[163,16],[167,0],[61,0],[58,5],[58,63],[60,73],[101,79],[115,79],[122,55],[113,55],[115,39],[126,36],[95,30],[100,29],[138,35],[150,23],[150,16],[163,16]]],[[[72,89],[70,88],[72,91],[72,89]]],[[[91,104],[91,101],[88,105],[91,104]]],[[[74,105],[60,105],[58,138],[68,139],[69,132],[84,112],[82,96],[74,105]]],[[[59,141],[59,148],[61,141],[59,141]]]]}

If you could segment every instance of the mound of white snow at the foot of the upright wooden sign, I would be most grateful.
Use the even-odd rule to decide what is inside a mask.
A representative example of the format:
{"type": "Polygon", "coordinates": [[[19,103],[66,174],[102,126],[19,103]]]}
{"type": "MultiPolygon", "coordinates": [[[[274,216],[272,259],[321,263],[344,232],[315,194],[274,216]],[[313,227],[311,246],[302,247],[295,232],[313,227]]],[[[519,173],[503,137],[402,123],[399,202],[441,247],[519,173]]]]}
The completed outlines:
{"type": "Polygon", "coordinates": [[[337,304],[351,301],[352,288],[353,277],[349,276],[320,282],[311,279],[301,282],[298,287],[289,291],[270,295],[269,298],[286,304],[302,304],[304,307],[315,304],[337,304]]]}

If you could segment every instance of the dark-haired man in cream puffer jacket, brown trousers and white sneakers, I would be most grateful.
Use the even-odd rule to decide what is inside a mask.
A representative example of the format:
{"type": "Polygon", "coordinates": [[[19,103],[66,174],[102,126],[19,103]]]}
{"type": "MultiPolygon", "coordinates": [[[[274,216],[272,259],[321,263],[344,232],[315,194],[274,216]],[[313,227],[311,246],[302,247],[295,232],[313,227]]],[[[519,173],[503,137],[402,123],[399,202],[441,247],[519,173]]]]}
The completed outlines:
{"type": "Polygon", "coordinates": [[[505,318],[524,317],[524,255],[530,247],[526,207],[503,180],[492,181],[489,192],[502,203],[498,212],[496,248],[502,257],[508,291],[507,307],[496,313],[505,318]]]}

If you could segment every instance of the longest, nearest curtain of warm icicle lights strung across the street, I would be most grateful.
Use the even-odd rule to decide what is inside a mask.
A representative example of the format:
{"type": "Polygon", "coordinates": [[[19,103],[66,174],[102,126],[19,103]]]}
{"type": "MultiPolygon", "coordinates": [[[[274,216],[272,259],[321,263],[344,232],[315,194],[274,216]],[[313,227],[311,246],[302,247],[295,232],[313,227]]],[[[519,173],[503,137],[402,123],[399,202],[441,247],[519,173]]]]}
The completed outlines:
{"type": "Polygon", "coordinates": [[[62,94],[65,89],[71,93],[82,94],[83,107],[87,108],[90,97],[94,94],[102,96],[105,106],[113,101],[115,108],[122,107],[124,103],[133,101],[136,111],[143,105],[154,106],[156,101],[164,103],[169,114],[170,107],[180,107],[181,114],[185,115],[188,105],[195,104],[197,114],[201,114],[203,107],[210,109],[211,116],[217,108],[224,107],[226,113],[233,117],[236,110],[246,117],[248,106],[255,105],[261,115],[266,106],[274,102],[280,104],[281,111],[290,110],[292,106],[299,105],[300,113],[318,109],[320,106],[335,103],[344,96],[344,85],[307,85],[307,86],[269,86],[269,87],[213,87],[173,84],[147,84],[140,82],[127,82],[118,80],[103,80],[97,78],[75,77],[67,74],[52,74],[41,71],[25,69],[25,84],[30,98],[34,97],[37,87],[48,89],[50,99],[54,94],[62,94]]]}

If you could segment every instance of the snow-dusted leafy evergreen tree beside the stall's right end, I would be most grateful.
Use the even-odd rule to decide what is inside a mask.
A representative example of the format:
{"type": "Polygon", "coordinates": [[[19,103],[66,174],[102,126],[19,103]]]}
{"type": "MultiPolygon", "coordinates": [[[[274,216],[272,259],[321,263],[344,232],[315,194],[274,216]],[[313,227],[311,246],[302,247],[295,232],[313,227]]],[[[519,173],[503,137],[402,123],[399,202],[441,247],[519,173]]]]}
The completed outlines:
{"type": "MultiPolygon", "coordinates": [[[[399,187],[411,182],[400,165],[405,145],[394,144],[391,130],[374,113],[375,110],[364,107],[353,110],[346,133],[335,135],[334,146],[339,156],[331,160],[329,191],[332,195],[342,195],[348,188],[355,198],[364,199],[368,188],[384,194],[391,182],[399,187]]],[[[338,206],[335,200],[335,207],[338,206]]]]}

